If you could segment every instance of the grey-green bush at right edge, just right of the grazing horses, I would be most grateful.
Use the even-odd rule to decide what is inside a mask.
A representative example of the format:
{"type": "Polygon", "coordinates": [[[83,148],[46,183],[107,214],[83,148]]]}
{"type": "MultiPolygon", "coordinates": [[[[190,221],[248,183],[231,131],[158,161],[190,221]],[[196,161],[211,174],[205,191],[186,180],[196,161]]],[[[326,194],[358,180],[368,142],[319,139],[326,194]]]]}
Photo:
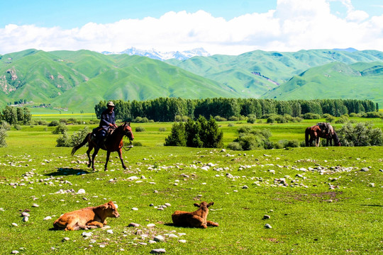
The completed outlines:
{"type": "Polygon", "coordinates": [[[372,123],[346,123],[338,131],[340,144],[343,146],[382,146],[383,131],[373,128],[372,123]]]}

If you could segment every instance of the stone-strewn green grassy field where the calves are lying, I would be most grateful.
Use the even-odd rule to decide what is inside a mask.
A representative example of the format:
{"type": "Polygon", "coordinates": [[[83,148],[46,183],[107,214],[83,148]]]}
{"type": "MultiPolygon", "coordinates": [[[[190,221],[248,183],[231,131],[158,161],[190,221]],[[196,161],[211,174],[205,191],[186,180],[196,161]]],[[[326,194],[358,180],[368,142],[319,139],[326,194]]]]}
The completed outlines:
{"type": "MultiPolygon", "coordinates": [[[[301,141],[304,128],[319,121],[253,126],[269,128],[273,141],[301,141]]],[[[369,121],[383,126],[381,119],[369,121]]],[[[240,125],[248,125],[228,124],[219,123],[225,145],[240,125]]],[[[132,123],[133,130],[137,126],[145,128],[134,132],[143,147],[123,152],[126,170],[112,154],[107,172],[102,171],[104,151],[96,158],[98,171],[91,171],[85,148],[71,157],[71,148],[55,147],[54,127],[10,130],[8,147],[0,148],[1,252],[150,254],[163,248],[167,254],[382,254],[382,147],[221,152],[163,147],[171,123],[132,123]],[[80,188],[85,193],[78,194],[80,188]],[[52,230],[62,213],[109,200],[121,214],[109,219],[109,229],[87,230],[91,237],[52,230]],[[202,200],[214,202],[208,220],[219,227],[172,225],[175,210],[195,210],[193,203],[202,200]],[[165,203],[171,206],[155,208],[165,203]],[[27,222],[23,210],[30,210],[27,222]],[[45,220],[48,216],[52,219],[45,220]],[[140,227],[128,227],[131,222],[140,227]],[[147,227],[150,223],[155,227],[147,227]],[[165,242],[149,244],[157,235],[165,242]]],[[[68,127],[73,132],[84,125],[68,127]]]]}

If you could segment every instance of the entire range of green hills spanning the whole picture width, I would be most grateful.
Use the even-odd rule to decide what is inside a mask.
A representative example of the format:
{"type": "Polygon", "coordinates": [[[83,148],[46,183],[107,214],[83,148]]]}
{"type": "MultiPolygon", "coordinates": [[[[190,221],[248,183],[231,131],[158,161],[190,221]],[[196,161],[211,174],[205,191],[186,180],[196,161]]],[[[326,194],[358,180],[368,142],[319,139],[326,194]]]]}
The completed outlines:
{"type": "Polygon", "coordinates": [[[0,106],[14,101],[93,111],[100,100],[362,98],[382,106],[383,52],[256,50],[161,62],[89,50],[0,55],[0,106]]]}

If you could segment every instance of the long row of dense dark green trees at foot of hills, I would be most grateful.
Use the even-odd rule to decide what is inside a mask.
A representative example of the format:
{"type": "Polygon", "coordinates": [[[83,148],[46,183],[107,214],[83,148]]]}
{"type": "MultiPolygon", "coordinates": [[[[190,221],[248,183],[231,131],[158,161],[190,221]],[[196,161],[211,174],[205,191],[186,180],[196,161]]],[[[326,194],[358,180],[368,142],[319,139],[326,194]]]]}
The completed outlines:
{"type": "MultiPolygon", "coordinates": [[[[370,100],[354,99],[316,99],[316,100],[292,100],[277,101],[272,99],[255,98],[156,98],[147,101],[113,101],[116,105],[114,111],[116,119],[134,120],[137,117],[149,120],[169,122],[178,116],[187,116],[192,119],[210,116],[223,118],[239,117],[240,115],[252,115],[261,118],[262,115],[276,113],[279,115],[289,114],[293,117],[305,113],[324,113],[333,116],[341,116],[346,113],[367,113],[376,111],[378,105],[370,100]]],[[[106,101],[100,101],[94,110],[97,118],[106,109],[106,101]]]]}

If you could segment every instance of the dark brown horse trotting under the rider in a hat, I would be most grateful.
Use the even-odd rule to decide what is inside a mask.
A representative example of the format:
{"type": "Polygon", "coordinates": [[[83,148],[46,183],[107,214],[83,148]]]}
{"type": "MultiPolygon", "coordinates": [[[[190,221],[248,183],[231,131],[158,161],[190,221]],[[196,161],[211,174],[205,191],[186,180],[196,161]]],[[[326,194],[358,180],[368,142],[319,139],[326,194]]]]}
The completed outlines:
{"type": "Polygon", "coordinates": [[[126,169],[125,164],[123,164],[123,157],[122,157],[122,147],[123,147],[123,137],[127,136],[130,141],[133,141],[134,136],[131,128],[131,123],[123,123],[123,125],[118,126],[114,132],[106,137],[106,141],[104,142],[104,147],[100,148],[97,146],[97,140],[96,137],[91,135],[89,133],[87,137],[85,137],[84,141],[80,143],[79,145],[73,147],[72,149],[72,156],[74,155],[74,152],[77,151],[77,149],[83,147],[88,142],[88,150],[87,155],[89,159],[88,167],[91,167],[94,170],[94,158],[96,157],[96,154],[99,152],[99,149],[106,150],[106,162],[105,162],[105,171],[108,171],[107,167],[109,162],[109,156],[111,155],[111,152],[117,152],[118,156],[121,159],[121,163],[123,166],[123,169],[126,169]],[[90,152],[94,148],[94,152],[91,155],[90,158],[90,152]]]}

